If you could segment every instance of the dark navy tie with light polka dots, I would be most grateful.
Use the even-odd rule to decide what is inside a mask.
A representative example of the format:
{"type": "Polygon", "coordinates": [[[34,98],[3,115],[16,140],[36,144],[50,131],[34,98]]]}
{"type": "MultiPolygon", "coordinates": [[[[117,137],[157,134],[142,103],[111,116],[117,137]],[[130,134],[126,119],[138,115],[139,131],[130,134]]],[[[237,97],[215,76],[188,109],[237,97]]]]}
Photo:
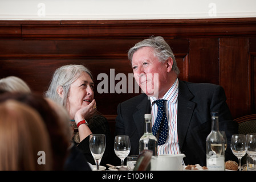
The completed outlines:
{"type": "Polygon", "coordinates": [[[159,139],[157,141],[159,146],[166,142],[168,135],[168,121],[165,113],[165,101],[166,100],[163,99],[154,101],[157,105],[157,117],[152,127],[152,133],[156,136],[157,131],[159,131],[159,139]]]}

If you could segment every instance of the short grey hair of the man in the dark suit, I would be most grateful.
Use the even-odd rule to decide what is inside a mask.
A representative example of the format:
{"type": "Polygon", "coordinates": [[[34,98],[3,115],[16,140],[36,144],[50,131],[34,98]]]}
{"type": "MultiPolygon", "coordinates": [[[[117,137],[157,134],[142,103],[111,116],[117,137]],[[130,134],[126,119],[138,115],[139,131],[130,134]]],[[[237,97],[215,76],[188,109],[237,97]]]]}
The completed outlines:
{"type": "Polygon", "coordinates": [[[129,49],[128,52],[128,59],[132,63],[132,56],[133,54],[143,47],[152,47],[155,50],[155,56],[164,63],[169,57],[172,57],[173,60],[173,66],[172,71],[174,71],[177,75],[180,73],[180,70],[178,69],[174,54],[172,52],[172,49],[170,46],[165,42],[164,38],[161,36],[151,36],[149,39],[145,39],[133,46],[131,49],[129,49]]]}

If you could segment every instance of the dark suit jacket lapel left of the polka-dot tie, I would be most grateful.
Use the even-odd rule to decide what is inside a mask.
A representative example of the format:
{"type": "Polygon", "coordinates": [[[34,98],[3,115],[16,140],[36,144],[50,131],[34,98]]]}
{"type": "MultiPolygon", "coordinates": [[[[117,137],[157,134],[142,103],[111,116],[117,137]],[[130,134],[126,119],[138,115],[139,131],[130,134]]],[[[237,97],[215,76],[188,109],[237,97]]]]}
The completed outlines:
{"type": "Polygon", "coordinates": [[[151,102],[146,94],[144,99],[141,100],[140,104],[137,105],[137,109],[138,110],[132,116],[133,121],[135,121],[138,134],[141,137],[144,134],[144,114],[151,113],[151,102]]]}

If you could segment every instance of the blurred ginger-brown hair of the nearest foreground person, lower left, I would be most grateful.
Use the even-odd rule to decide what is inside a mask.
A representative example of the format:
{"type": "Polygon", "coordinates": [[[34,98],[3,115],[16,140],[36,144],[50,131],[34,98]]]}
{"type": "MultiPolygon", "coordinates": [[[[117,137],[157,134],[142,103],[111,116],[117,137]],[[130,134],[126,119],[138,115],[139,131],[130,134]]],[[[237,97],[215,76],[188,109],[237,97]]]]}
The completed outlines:
{"type": "Polygon", "coordinates": [[[0,104],[0,170],[50,170],[52,151],[46,126],[32,107],[14,100],[0,104]],[[38,164],[44,151],[46,164],[38,164]]]}

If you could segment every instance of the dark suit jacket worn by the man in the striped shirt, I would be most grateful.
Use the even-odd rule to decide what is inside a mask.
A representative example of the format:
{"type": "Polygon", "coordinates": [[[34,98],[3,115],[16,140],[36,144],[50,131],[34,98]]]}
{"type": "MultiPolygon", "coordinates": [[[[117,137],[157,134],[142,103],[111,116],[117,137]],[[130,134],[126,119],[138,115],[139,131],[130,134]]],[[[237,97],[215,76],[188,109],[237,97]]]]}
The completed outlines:
{"type": "MultiPolygon", "coordinates": [[[[194,84],[179,80],[178,144],[181,153],[186,155],[186,165],[206,166],[206,137],[212,129],[212,111],[219,113],[220,130],[226,132],[226,161],[237,161],[229,146],[231,135],[238,133],[238,124],[231,117],[224,89],[214,84],[194,84]]],[[[144,114],[147,113],[151,113],[151,102],[146,94],[140,94],[117,106],[116,135],[129,136],[129,155],[139,154],[139,139],[144,134],[144,114]]]]}

